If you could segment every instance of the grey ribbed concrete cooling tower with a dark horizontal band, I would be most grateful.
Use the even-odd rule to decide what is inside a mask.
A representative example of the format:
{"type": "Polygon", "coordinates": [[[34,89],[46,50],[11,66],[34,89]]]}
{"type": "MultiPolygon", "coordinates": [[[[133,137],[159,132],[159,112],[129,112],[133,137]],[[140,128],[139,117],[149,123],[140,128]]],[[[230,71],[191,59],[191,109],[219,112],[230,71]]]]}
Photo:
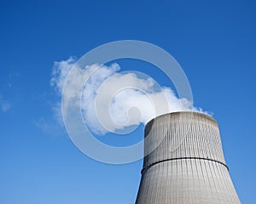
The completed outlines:
{"type": "Polygon", "coordinates": [[[144,145],[136,204],[240,203],[211,116],[158,116],[145,127],[144,145]]]}

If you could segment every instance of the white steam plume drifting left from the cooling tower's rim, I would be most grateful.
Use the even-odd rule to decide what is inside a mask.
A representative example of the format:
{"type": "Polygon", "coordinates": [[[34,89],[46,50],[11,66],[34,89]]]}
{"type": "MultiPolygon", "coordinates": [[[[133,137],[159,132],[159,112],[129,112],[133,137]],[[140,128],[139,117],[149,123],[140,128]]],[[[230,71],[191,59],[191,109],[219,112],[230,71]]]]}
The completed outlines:
{"type": "MultiPolygon", "coordinates": [[[[54,64],[50,83],[60,95],[75,62],[76,59],[70,57],[54,64]]],[[[109,66],[94,64],[80,69],[73,78],[74,91],[75,80],[79,77],[87,78],[95,68],[96,71],[84,85],[81,98],[84,121],[94,133],[114,133],[141,122],[145,124],[167,112],[203,112],[188,99],[178,99],[171,88],[160,87],[146,75],[136,71],[119,72],[120,67],[116,63],[109,66]]],[[[69,97],[72,97],[72,93],[69,97]]]]}

